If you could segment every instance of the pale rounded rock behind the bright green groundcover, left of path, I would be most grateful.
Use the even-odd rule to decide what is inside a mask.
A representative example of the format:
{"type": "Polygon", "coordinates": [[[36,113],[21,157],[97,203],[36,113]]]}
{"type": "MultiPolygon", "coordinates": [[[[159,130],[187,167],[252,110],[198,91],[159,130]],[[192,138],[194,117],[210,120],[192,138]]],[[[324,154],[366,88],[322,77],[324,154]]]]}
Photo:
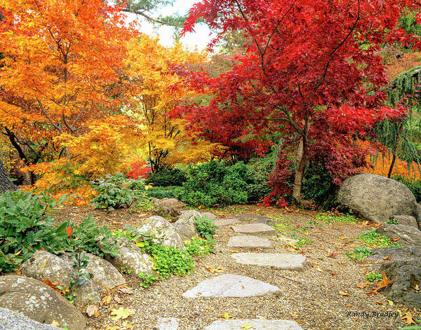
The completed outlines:
{"type": "Polygon", "coordinates": [[[137,230],[138,233],[149,233],[155,235],[155,242],[161,243],[164,247],[175,247],[185,249],[180,234],[175,226],[170,224],[161,216],[151,216],[137,230]]]}

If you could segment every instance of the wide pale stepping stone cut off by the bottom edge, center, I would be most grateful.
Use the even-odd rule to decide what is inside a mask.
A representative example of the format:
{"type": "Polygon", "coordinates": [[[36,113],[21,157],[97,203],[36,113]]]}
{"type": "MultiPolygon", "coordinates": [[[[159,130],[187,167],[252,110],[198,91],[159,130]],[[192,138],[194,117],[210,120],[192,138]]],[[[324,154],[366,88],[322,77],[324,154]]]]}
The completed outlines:
{"type": "Polygon", "coordinates": [[[244,324],[253,326],[246,328],[250,330],[302,330],[297,322],[283,319],[224,319],[206,326],[205,330],[239,330],[244,329],[244,324]]]}

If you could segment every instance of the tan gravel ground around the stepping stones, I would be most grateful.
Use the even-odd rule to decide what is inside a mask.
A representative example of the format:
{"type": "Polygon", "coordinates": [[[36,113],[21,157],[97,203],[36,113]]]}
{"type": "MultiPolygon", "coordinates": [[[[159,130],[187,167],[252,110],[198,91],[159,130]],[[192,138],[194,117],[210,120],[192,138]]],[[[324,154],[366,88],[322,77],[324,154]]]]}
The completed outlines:
{"type": "MultiPolygon", "coordinates": [[[[76,209],[76,208],[75,208],[76,209]]],[[[80,208],[78,208],[80,210],[80,208]]],[[[66,209],[60,210],[65,214],[66,209]]],[[[74,220],[92,209],[73,212],[74,220]],[[82,212],[83,211],[83,212],[82,212]]],[[[97,211],[98,212],[98,211],[97,211]]],[[[102,211],[101,211],[102,212],[102,211]]],[[[102,212],[95,214],[104,224],[140,224],[149,214],[128,214],[128,212],[102,212]],[[104,216],[107,214],[107,216],[104,216]]],[[[110,305],[100,306],[100,316],[88,318],[88,329],[154,329],[159,317],[177,317],[180,330],[201,330],[228,313],[234,319],[289,319],[298,322],[303,329],[400,329],[405,326],[398,310],[406,312],[405,306],[390,305],[382,294],[366,294],[365,284],[368,263],[356,263],[347,259],[345,252],[361,242],[356,236],[373,229],[365,222],[354,224],[323,224],[312,222],[316,212],[297,209],[260,208],[253,205],[213,210],[222,217],[239,214],[261,214],[280,219],[285,225],[279,228],[288,235],[307,238],[312,243],[299,251],[285,246],[274,238],[274,249],[241,249],[227,247],[227,241],[234,232],[221,227],[215,239],[215,254],[197,259],[194,273],[186,277],[170,277],[156,282],[148,289],[135,283],[133,294],[121,294],[110,305]],[[310,223],[309,223],[310,221],[310,223]],[[244,266],[235,263],[230,254],[235,252],[298,252],[307,257],[309,270],[304,272],[277,270],[259,266],[244,266]],[[276,285],[280,294],[254,298],[182,298],[182,294],[202,280],[216,276],[207,267],[220,267],[222,273],[246,275],[276,285]],[[339,292],[349,296],[343,296],[339,292]],[[116,303],[119,301],[119,303],[116,303]],[[135,314],[124,321],[114,321],[109,312],[113,308],[131,308],[135,314]],[[365,313],[361,316],[352,313],[365,313]],[[376,314],[377,313],[377,314],[376,314]],[[380,315],[382,313],[382,315],[380,315]],[[396,314],[397,313],[397,314],[396,314]],[[107,328],[108,326],[108,328],[107,328]]],[[[57,214],[54,214],[59,218],[57,214]]],[[[244,224],[253,219],[243,219],[244,224]]],[[[119,227],[120,224],[114,226],[119,227]]],[[[219,274],[218,274],[219,275],[219,274]]],[[[130,280],[130,278],[128,278],[130,280]]],[[[84,310],[83,306],[80,306],[84,310]]],[[[413,315],[420,311],[412,310],[413,315]]]]}

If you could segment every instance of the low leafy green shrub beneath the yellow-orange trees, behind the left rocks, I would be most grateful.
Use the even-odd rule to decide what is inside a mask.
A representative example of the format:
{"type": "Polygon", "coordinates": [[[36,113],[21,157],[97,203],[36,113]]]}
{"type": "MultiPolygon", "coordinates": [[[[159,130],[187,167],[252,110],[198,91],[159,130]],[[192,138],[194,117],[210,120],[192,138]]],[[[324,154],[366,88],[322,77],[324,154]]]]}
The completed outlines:
{"type": "Polygon", "coordinates": [[[131,207],[133,202],[144,200],[146,196],[143,180],[127,179],[121,173],[108,174],[105,178],[91,181],[91,185],[98,193],[91,202],[99,209],[131,207]]]}

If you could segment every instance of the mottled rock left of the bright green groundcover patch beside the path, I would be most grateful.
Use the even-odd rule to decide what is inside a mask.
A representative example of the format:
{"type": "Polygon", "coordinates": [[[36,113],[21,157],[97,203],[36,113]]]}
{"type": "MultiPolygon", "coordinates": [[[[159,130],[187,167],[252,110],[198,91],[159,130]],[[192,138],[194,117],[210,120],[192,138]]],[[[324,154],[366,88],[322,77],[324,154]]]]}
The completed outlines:
{"type": "Polygon", "coordinates": [[[105,259],[112,263],[117,269],[124,267],[127,270],[131,270],[131,274],[135,277],[138,277],[140,273],[155,273],[153,269],[154,263],[149,254],[143,252],[134,242],[131,242],[126,238],[121,238],[117,249],[120,254],[117,254],[116,256],[105,254],[105,259]]]}

